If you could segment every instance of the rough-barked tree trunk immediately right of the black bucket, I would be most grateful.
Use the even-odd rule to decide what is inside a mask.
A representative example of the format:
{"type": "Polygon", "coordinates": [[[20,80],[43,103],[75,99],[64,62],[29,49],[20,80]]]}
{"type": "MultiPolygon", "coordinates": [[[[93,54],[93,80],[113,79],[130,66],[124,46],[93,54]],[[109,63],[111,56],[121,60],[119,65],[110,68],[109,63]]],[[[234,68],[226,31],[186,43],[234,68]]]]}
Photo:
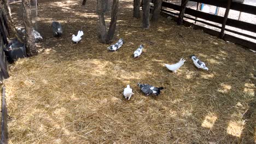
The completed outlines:
{"type": "Polygon", "coordinates": [[[26,30],[26,50],[28,56],[37,54],[37,47],[33,36],[33,24],[31,20],[31,5],[30,0],[22,0],[23,15],[24,15],[24,26],[26,30]]]}

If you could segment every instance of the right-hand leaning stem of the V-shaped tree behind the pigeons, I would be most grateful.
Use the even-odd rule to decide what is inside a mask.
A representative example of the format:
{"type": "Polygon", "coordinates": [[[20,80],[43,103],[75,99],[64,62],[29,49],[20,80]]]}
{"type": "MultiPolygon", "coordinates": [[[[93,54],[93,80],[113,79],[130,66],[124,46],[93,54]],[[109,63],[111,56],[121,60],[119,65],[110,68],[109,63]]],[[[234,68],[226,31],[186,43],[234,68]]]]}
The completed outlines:
{"type": "Polygon", "coordinates": [[[106,37],[106,43],[109,43],[109,41],[112,40],[114,37],[115,28],[117,27],[118,3],[119,0],[113,0],[111,21],[108,29],[108,34],[106,37]]]}

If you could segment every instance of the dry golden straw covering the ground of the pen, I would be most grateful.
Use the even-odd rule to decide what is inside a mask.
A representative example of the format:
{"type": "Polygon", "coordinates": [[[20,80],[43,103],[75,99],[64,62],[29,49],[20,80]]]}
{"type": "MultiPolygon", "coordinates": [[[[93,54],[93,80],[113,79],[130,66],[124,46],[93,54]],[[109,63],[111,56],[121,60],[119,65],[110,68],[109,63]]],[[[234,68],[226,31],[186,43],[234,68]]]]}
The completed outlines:
{"type": "MultiPolygon", "coordinates": [[[[97,41],[95,1],[81,3],[39,1],[40,53],[11,65],[4,81],[9,143],[255,142],[255,53],[165,17],[143,30],[131,0],[120,1],[115,41],[125,44],[108,52],[97,41]],[[53,38],[52,20],[62,23],[61,38],[53,38]],[[79,29],[83,39],[72,44],[79,29]],[[193,54],[210,71],[196,69],[193,54]],[[164,67],[182,57],[176,74],[164,67]],[[137,82],[165,89],[146,97],[137,82]],[[135,93],[129,101],[127,84],[135,93]]],[[[19,6],[11,4],[14,17],[19,6]]]]}

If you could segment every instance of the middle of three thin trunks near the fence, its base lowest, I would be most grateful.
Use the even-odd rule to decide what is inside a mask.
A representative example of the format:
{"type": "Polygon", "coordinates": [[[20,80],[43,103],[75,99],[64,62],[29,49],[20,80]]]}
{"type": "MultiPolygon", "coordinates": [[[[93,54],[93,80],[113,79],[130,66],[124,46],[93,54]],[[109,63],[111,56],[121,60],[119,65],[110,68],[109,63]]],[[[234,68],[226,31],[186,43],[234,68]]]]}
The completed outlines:
{"type": "Polygon", "coordinates": [[[143,0],[143,20],[142,27],[145,29],[149,28],[149,5],[150,0],[143,0]]]}

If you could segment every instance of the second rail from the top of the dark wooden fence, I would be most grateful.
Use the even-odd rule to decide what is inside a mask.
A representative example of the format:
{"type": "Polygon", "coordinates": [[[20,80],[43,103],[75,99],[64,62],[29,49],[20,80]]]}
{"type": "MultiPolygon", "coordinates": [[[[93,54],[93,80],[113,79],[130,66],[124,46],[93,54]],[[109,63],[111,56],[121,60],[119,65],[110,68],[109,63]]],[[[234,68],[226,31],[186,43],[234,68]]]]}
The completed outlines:
{"type": "MultiPolygon", "coordinates": [[[[181,6],[176,5],[176,4],[172,4],[172,3],[167,4],[166,2],[162,2],[162,4],[163,4],[163,7],[166,7],[166,8],[171,8],[171,9],[178,10],[178,11],[181,9],[181,6]]],[[[190,8],[186,8],[185,14],[192,15],[195,17],[199,17],[201,19],[205,19],[205,20],[220,23],[220,24],[223,23],[223,19],[224,19],[222,16],[203,13],[201,11],[197,11],[197,10],[190,9],[190,8]]],[[[252,23],[238,21],[238,20],[234,20],[234,19],[228,19],[226,21],[226,25],[231,26],[231,27],[241,28],[246,31],[256,33],[256,25],[254,25],[252,23]]]]}

